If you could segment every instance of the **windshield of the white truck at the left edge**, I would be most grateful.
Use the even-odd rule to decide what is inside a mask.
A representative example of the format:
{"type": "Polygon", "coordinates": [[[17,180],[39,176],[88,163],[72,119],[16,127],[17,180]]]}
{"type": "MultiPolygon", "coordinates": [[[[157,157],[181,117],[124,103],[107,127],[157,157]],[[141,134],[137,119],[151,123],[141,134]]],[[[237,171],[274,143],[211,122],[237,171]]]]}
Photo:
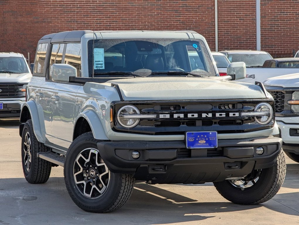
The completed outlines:
{"type": "Polygon", "coordinates": [[[0,57],[0,74],[3,73],[28,73],[24,58],[0,57]]]}

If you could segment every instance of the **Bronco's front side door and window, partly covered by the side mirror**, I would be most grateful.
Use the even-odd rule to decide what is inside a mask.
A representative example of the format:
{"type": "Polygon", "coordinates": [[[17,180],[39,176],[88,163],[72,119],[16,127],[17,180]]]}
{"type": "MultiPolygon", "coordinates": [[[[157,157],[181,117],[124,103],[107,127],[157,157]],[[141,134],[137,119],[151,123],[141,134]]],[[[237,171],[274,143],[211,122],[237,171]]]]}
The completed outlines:
{"type": "MultiPolygon", "coordinates": [[[[77,76],[81,71],[80,43],[64,44],[62,63],[74,66],[77,76]]],[[[56,62],[57,63],[57,62],[56,62]]],[[[68,149],[73,140],[75,96],[80,85],[69,82],[57,82],[54,89],[54,107],[52,135],[55,147],[68,149]]]]}

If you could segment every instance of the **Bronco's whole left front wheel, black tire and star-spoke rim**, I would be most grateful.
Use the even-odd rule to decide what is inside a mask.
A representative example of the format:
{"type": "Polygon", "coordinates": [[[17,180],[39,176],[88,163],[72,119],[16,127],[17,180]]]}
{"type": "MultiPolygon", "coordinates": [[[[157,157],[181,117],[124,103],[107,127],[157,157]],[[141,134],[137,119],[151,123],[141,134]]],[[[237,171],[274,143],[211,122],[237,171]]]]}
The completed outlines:
{"type": "Polygon", "coordinates": [[[77,137],[68,149],[65,185],[74,203],[87,212],[111,212],[129,200],[134,178],[109,171],[91,132],[77,137]]]}

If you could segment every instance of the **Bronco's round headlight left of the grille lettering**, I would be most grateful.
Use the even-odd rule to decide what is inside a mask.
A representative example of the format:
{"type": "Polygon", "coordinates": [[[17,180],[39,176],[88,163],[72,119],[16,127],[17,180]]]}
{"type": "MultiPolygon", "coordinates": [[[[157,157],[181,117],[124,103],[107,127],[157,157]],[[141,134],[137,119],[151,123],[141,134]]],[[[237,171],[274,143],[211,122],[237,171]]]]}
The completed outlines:
{"type": "Polygon", "coordinates": [[[117,121],[118,123],[125,128],[135,127],[140,119],[138,118],[126,118],[126,116],[140,114],[140,111],[134,105],[125,105],[118,110],[117,121]]]}

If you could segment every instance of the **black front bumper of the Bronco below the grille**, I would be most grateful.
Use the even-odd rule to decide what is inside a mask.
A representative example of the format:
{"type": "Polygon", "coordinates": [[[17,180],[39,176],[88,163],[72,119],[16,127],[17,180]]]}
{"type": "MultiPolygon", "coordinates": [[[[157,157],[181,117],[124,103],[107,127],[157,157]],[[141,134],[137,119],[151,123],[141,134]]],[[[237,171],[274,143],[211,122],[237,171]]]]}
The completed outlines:
{"type": "Polygon", "coordinates": [[[217,149],[186,149],[184,141],[102,141],[98,150],[109,170],[151,183],[204,183],[248,175],[273,166],[279,137],[218,140],[217,149]],[[264,154],[257,155],[257,147],[264,154]],[[138,159],[132,152],[140,152],[138,159]]]}

